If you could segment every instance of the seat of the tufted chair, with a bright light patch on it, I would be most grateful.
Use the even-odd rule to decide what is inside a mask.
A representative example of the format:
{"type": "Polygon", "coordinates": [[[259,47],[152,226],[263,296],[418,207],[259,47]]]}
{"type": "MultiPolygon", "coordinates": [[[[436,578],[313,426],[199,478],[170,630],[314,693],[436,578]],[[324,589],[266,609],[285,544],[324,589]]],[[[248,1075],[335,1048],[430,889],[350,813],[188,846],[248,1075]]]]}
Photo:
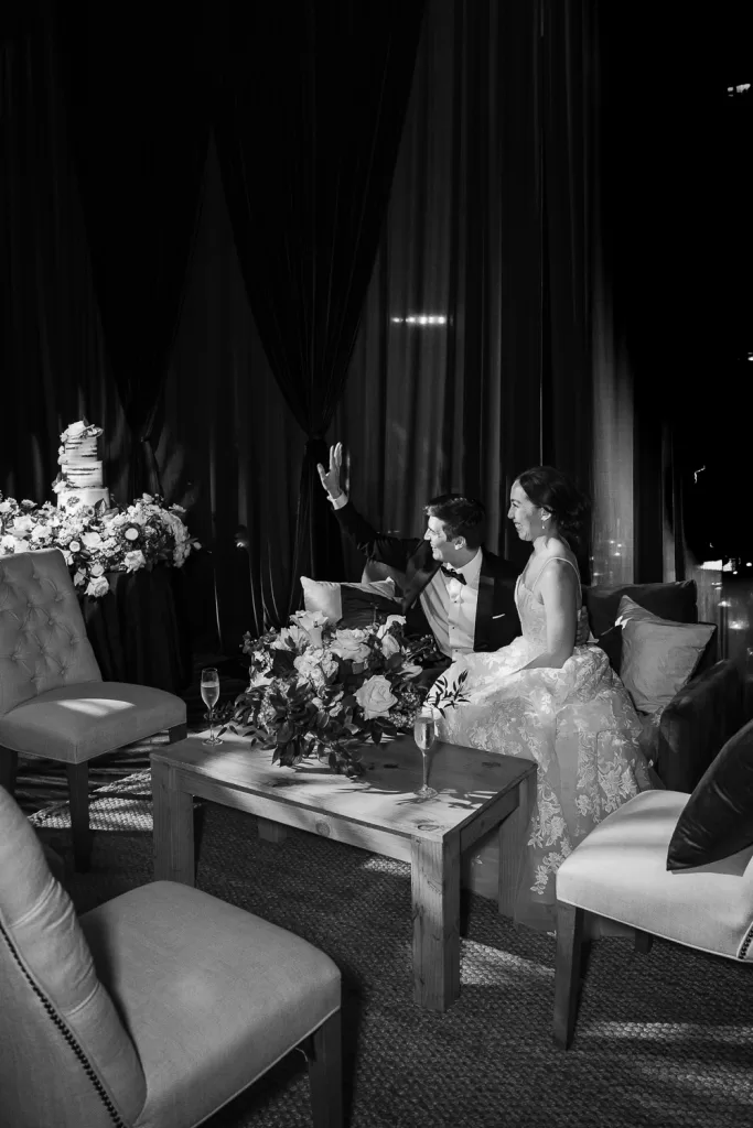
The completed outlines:
{"type": "Polygon", "coordinates": [[[124,681],[61,686],[0,716],[0,744],[80,764],[185,723],[185,702],[124,681]]]}

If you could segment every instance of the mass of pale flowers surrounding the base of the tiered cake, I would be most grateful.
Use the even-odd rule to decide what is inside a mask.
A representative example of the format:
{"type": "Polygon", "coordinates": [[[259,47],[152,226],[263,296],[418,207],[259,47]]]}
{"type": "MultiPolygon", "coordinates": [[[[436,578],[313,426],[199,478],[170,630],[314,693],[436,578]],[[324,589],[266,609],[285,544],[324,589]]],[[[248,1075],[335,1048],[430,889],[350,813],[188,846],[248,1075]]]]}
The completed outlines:
{"type": "Polygon", "coordinates": [[[110,590],[106,572],[138,572],[159,561],[181,567],[201,547],[184,513],[151,494],[110,510],[75,501],[58,509],[0,494],[0,555],[60,548],[76,587],[98,598],[110,590]]]}

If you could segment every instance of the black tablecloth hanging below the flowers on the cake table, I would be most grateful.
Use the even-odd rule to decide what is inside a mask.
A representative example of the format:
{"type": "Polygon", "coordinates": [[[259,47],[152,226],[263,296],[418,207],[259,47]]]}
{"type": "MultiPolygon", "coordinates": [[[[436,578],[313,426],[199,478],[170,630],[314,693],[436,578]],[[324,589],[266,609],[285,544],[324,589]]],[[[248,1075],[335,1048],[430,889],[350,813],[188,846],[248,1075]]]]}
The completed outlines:
{"type": "Polygon", "coordinates": [[[110,591],[79,596],[86,632],[105,681],[180,694],[191,681],[191,640],[180,569],[108,572],[110,591]]]}

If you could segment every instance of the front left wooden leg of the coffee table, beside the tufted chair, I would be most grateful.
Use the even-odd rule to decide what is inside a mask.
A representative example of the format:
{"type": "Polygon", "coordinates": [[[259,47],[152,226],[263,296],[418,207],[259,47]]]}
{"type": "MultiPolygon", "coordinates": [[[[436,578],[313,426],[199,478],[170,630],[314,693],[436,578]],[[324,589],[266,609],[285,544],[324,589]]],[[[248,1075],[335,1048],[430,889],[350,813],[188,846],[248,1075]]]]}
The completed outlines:
{"type": "Polygon", "coordinates": [[[155,881],[193,885],[193,795],[182,791],[175,768],[152,761],[155,881]]]}

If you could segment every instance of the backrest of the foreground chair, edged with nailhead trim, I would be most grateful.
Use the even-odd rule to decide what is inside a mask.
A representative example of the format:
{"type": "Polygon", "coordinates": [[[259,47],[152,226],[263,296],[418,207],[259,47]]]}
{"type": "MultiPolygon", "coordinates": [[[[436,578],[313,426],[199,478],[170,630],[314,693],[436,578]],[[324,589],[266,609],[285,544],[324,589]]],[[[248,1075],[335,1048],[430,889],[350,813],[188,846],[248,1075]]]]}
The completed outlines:
{"type": "Polygon", "coordinates": [[[97,980],[68,893],[50,873],[36,832],[3,787],[0,982],[0,1121],[18,1128],[51,1122],[112,1126],[86,1063],[72,1048],[75,1040],[131,1123],[146,1099],[133,1043],[97,980]],[[58,1110],[54,1116],[51,1109],[58,1110]]]}

